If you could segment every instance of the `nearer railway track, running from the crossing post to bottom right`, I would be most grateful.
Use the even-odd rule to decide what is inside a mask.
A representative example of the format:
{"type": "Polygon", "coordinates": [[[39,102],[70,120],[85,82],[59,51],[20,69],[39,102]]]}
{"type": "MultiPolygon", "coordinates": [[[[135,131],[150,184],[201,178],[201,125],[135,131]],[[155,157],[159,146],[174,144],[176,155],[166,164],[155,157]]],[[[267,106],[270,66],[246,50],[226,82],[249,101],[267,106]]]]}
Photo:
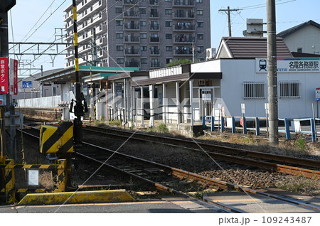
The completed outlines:
{"type": "MultiPolygon", "coordinates": [[[[35,135],[33,134],[33,136],[35,135]]],[[[183,171],[164,164],[146,161],[145,159],[129,156],[127,154],[121,154],[117,151],[112,151],[87,142],[83,142],[83,145],[84,147],[77,151],[77,154],[82,158],[95,161],[95,163],[100,164],[101,167],[107,167],[112,169],[112,171],[124,173],[132,178],[144,181],[144,183],[154,186],[157,190],[163,190],[177,195],[185,195],[191,198],[190,195],[187,195],[188,191],[194,188],[194,183],[199,183],[203,185],[203,187],[211,187],[220,190],[242,190],[245,191],[245,193],[259,194],[281,200],[283,203],[289,203],[290,205],[308,209],[311,212],[320,211],[319,205],[312,205],[301,200],[292,200],[291,198],[286,198],[281,195],[265,193],[260,190],[245,188],[214,178],[207,178],[196,173],[183,171]]],[[[221,205],[221,203],[215,203],[208,199],[206,199],[206,201],[229,212],[243,212],[238,208],[230,207],[230,205],[221,205]]]]}

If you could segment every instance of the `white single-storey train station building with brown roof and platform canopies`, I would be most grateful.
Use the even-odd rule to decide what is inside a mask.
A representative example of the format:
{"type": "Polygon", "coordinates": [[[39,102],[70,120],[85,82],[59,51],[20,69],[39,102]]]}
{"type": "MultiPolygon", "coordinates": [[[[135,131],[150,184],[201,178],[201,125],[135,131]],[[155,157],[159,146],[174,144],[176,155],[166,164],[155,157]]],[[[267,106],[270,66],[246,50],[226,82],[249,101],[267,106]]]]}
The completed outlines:
{"type": "MultiPolygon", "coordinates": [[[[312,117],[312,104],[319,116],[319,62],[320,58],[293,58],[282,38],[277,38],[279,118],[312,117]]],[[[70,102],[73,73],[74,68],[69,68],[39,81],[60,82],[60,101],[70,102]]],[[[245,116],[265,117],[267,39],[222,38],[215,58],[201,63],[149,71],[80,66],[80,75],[83,93],[94,109],[91,118],[118,119],[127,127],[164,123],[192,130],[203,116],[242,116],[241,104],[245,116]]],[[[63,119],[73,119],[68,108],[63,112],[63,119]]]]}

